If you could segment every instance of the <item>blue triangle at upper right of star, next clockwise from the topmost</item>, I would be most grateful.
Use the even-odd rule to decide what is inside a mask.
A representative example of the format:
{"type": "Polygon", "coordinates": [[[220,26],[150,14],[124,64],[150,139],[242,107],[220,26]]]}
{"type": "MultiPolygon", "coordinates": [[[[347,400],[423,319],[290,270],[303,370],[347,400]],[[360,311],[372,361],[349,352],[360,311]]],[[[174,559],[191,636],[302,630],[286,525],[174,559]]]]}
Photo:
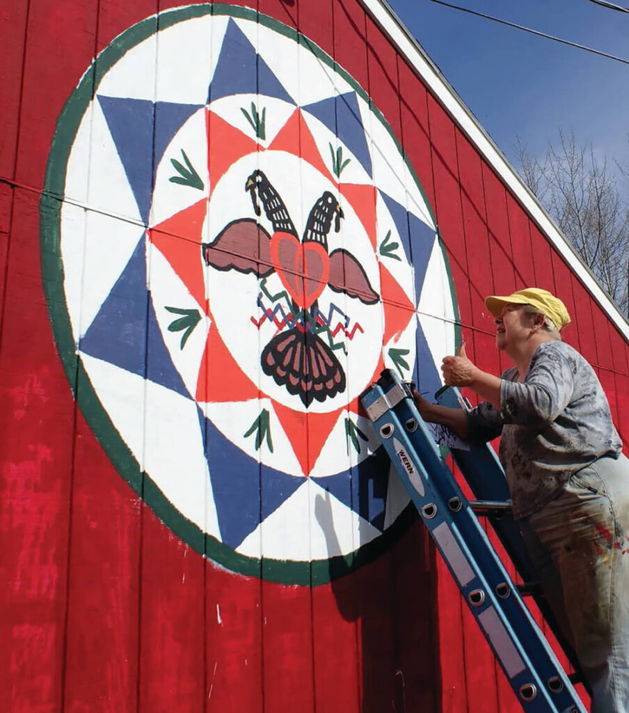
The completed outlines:
{"type": "Polygon", "coordinates": [[[363,165],[371,178],[371,155],[365,138],[363,120],[360,118],[358,98],[355,91],[331,96],[314,104],[302,107],[316,116],[347,146],[363,165]]]}

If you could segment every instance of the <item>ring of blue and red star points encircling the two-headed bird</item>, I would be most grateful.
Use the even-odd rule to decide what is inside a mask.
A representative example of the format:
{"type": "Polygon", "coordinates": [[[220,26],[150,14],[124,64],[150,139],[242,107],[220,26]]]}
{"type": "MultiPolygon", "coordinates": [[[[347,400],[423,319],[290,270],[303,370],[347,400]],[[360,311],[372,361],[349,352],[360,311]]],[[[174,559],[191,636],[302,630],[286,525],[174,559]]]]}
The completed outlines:
{"type": "MultiPolygon", "coordinates": [[[[220,180],[244,155],[286,152],[298,155],[332,183],[338,195],[358,216],[378,257],[383,352],[390,344],[397,344],[397,340],[409,329],[414,330],[417,359],[413,359],[413,354],[408,355],[411,363],[407,364],[407,376],[414,374],[415,379],[422,379],[423,384],[438,387],[434,362],[415,311],[435,243],[435,230],[373,185],[370,144],[355,92],[297,106],[234,20],[230,20],[227,26],[208,89],[208,103],[204,108],[195,104],[152,103],[111,96],[98,96],[98,102],[142,220],[147,224],[147,232],[83,335],[80,350],[142,375],[199,404],[199,427],[212,478],[222,540],[237,548],[266,517],[304,486],[305,478],[316,469],[326,441],[339,422],[343,419],[357,421],[362,413],[358,398],[323,413],[291,409],[273,399],[271,394],[261,391],[260,384],[243,371],[229,351],[213,319],[200,259],[209,200],[220,180]],[[263,140],[254,135],[248,124],[235,125],[224,118],[224,112],[219,113],[218,108],[214,111],[214,102],[218,107],[219,102],[224,103],[227,98],[239,94],[268,96],[286,105],[286,120],[275,135],[266,136],[263,140]],[[151,201],[158,180],[157,167],[162,157],[172,161],[170,154],[166,155],[170,141],[199,110],[204,111],[208,145],[207,166],[199,169],[199,180],[203,183],[203,177],[207,175],[207,192],[194,194],[194,190],[189,190],[187,195],[191,196],[191,200],[194,198],[189,205],[152,224],[151,201]],[[365,175],[363,183],[343,182],[341,170],[333,170],[330,156],[326,153],[328,147],[322,146],[321,140],[311,130],[313,118],[338,137],[339,145],[345,147],[345,157],[360,164],[365,175]],[[414,296],[409,297],[408,290],[395,277],[393,267],[390,270],[387,261],[378,255],[382,240],[378,235],[378,195],[390,215],[391,228],[400,238],[396,260],[402,265],[412,265],[414,296]],[[184,385],[155,319],[155,308],[147,286],[145,252],[148,247],[158,250],[165,257],[172,271],[187,287],[199,312],[209,320],[194,393],[184,385]],[[274,437],[284,437],[291,444],[301,473],[284,473],[252,459],[239,443],[232,443],[224,436],[203,409],[203,404],[208,403],[233,404],[256,399],[271,400],[274,416],[284,431],[283,436],[276,434],[274,437]],[[239,473],[238,478],[234,478],[234,468],[239,473]]],[[[213,237],[210,236],[210,239],[213,237]]],[[[380,356],[373,379],[384,366],[383,356],[380,356]]],[[[255,374],[254,378],[257,379],[257,376],[255,374]]],[[[358,444],[360,448],[367,448],[362,441],[358,444]]],[[[364,455],[362,451],[360,456],[364,455]]],[[[383,450],[378,449],[373,455],[362,457],[352,468],[325,477],[313,476],[313,481],[373,527],[383,530],[388,472],[383,450]]]]}

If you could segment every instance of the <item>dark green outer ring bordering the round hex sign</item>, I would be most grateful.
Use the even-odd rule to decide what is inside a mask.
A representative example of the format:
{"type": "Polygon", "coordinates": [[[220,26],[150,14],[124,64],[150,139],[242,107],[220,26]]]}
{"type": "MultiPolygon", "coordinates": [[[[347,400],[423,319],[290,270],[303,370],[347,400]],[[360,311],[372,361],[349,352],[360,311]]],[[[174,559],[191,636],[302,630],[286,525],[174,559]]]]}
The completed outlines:
{"type": "MultiPolygon", "coordinates": [[[[432,221],[435,225],[435,215],[427,199],[415,170],[407,162],[402,146],[398,142],[393,130],[385,120],[383,113],[374,106],[368,93],[348,74],[343,68],[311,40],[269,16],[259,14],[254,10],[227,4],[199,4],[176,8],[165,11],[159,16],[150,16],[138,22],[118,35],[90,64],[90,67],[81,78],[77,88],[58,116],[55,133],[48,156],[46,178],[40,202],[40,230],[41,230],[41,263],[43,289],[46,294],[48,312],[51,318],[53,334],[57,349],[61,356],[66,376],[70,382],[73,396],[78,400],[78,406],[85,419],[90,424],[96,438],[108,454],[113,466],[120,473],[131,488],[147,503],[155,514],[177,536],[182,538],[192,549],[199,554],[211,558],[229,570],[234,570],[242,575],[259,577],[271,582],[316,586],[331,582],[342,575],[354,571],[358,567],[375,560],[387,548],[398,540],[407,528],[415,522],[417,515],[412,503],[397,517],[395,523],[383,535],[375,538],[370,543],[354,550],[348,555],[338,555],[328,560],[311,560],[310,562],[291,562],[286,560],[273,560],[270,558],[251,558],[234,552],[228,545],[220,542],[212,535],[204,533],[198,525],[192,523],[172,506],[160,488],[152,481],[147,473],[142,473],[140,464],[129,450],[123,438],[113,426],[107,412],[100,404],[98,396],[90,382],[87,371],[82,361],[76,354],[76,346],[72,334],[70,317],[66,304],[66,295],[63,291],[64,273],[61,261],[61,206],[65,198],[66,168],[70,156],[73,140],[78,131],[80,121],[90,101],[95,95],[95,90],[100,81],[110,68],[140,42],[144,41],[157,31],[166,29],[178,22],[208,14],[227,15],[240,19],[259,21],[262,25],[279,32],[311,51],[317,58],[325,62],[338,73],[355,91],[369,103],[370,110],[388,130],[397,150],[404,158],[413,180],[417,183],[425,204],[430,210],[432,221]]],[[[440,240],[440,245],[442,242],[440,240]]],[[[458,315],[457,299],[452,284],[449,262],[444,251],[445,265],[452,293],[452,303],[458,315]]],[[[457,327],[458,328],[458,327],[457,327]]],[[[457,332],[458,336],[458,332],[457,332]]]]}

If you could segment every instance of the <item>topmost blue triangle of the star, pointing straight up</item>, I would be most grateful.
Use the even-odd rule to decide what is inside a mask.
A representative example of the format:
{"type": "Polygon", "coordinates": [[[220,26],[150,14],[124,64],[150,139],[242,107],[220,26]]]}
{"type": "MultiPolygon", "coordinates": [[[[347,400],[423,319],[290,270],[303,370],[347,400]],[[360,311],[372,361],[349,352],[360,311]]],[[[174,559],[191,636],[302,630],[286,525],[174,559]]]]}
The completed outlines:
{"type": "Polygon", "coordinates": [[[207,103],[234,94],[260,94],[295,103],[243,31],[230,19],[209,85],[207,103]]]}

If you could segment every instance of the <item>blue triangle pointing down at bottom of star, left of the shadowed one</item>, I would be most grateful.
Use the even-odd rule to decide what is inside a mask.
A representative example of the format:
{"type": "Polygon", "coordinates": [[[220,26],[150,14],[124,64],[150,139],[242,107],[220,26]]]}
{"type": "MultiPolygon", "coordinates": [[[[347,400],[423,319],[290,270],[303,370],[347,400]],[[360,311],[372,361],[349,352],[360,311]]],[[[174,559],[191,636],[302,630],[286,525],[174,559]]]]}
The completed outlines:
{"type": "Polygon", "coordinates": [[[236,548],[305,481],[247,456],[200,409],[199,420],[221,538],[236,548]]]}

